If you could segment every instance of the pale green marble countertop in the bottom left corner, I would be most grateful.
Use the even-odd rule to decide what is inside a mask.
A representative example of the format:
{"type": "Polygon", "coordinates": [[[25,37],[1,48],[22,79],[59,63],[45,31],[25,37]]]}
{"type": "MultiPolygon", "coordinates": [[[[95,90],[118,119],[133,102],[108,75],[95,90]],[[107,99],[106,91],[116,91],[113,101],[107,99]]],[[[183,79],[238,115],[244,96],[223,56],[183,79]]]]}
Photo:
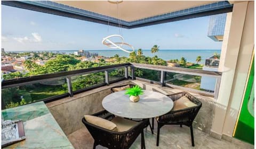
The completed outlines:
{"type": "Polygon", "coordinates": [[[44,102],[2,110],[4,120],[23,120],[26,139],[4,148],[74,148],[44,102]]]}

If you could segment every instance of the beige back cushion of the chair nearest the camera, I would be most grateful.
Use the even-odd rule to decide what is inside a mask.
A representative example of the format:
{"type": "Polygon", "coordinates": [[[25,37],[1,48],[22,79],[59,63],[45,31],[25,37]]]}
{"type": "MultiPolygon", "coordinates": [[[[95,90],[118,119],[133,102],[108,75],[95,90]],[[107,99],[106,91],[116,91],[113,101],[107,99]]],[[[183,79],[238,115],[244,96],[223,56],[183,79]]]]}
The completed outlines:
{"type": "Polygon", "coordinates": [[[100,117],[95,117],[95,116],[90,116],[90,115],[85,115],[84,116],[85,120],[87,122],[90,122],[91,124],[97,125],[99,127],[109,129],[112,131],[117,131],[117,126],[114,122],[111,122],[107,119],[103,119],[100,117]]]}

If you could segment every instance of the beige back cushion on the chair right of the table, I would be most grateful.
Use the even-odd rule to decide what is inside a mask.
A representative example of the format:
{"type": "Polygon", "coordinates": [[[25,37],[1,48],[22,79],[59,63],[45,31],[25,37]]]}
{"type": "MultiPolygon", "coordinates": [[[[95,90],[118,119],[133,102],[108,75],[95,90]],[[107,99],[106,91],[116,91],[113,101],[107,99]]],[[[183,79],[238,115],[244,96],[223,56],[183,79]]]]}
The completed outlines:
{"type": "Polygon", "coordinates": [[[191,102],[186,96],[183,96],[180,99],[174,101],[174,106],[172,111],[194,107],[194,106],[197,106],[197,104],[195,104],[194,102],[191,102]]]}

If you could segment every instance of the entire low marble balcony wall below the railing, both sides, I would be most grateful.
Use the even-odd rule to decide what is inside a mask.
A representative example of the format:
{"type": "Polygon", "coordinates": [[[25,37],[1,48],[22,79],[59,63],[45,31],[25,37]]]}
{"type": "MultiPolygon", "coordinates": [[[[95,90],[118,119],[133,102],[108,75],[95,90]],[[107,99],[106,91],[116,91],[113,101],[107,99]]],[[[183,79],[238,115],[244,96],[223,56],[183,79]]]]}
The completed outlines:
{"type": "MultiPolygon", "coordinates": [[[[110,88],[122,84],[138,84],[145,90],[161,92],[163,94],[181,92],[181,90],[171,89],[170,87],[162,87],[161,85],[157,84],[150,84],[137,80],[125,80],[110,84],[109,86],[103,86],[91,91],[76,94],[72,98],[64,98],[58,101],[53,101],[47,103],[46,106],[59,123],[63,132],[65,132],[66,135],[69,135],[84,127],[81,122],[84,115],[89,115],[91,113],[103,110],[101,102],[106,95],[111,93],[110,88]]],[[[195,95],[195,97],[197,97],[203,103],[203,106],[199,111],[193,125],[195,128],[210,134],[214,116],[214,108],[217,106],[217,104],[214,102],[213,98],[205,97],[199,94],[193,95],[195,95]]],[[[221,106],[218,105],[218,107],[221,106]]]]}

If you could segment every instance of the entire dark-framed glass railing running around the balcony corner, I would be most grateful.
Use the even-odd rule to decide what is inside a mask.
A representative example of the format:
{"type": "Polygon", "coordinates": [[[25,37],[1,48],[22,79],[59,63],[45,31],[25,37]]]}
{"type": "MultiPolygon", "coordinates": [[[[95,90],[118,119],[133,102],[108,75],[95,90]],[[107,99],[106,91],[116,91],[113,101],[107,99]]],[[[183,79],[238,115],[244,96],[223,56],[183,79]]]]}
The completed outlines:
{"type": "Polygon", "coordinates": [[[221,73],[198,69],[125,63],[2,81],[2,109],[51,102],[132,78],[218,97],[221,73]],[[129,75],[130,74],[130,75],[129,75]]]}

